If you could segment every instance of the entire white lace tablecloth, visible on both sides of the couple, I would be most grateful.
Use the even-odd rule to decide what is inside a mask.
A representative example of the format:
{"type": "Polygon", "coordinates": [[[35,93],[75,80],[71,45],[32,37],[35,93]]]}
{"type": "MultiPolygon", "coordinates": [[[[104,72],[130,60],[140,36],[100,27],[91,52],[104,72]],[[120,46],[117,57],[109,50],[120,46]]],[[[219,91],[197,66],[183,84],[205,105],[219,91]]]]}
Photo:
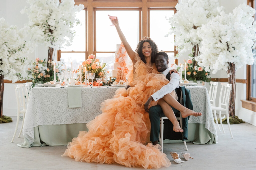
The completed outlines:
{"type": "MultiPolygon", "coordinates": [[[[205,124],[205,128],[217,137],[207,89],[201,86],[186,88],[191,93],[193,110],[202,113],[202,116],[190,116],[188,123],[205,124]]],[[[116,87],[83,87],[82,107],[69,108],[67,88],[32,88],[24,119],[23,135],[33,143],[34,127],[38,125],[88,123],[101,114],[100,103],[112,98],[116,90],[116,87]]]]}

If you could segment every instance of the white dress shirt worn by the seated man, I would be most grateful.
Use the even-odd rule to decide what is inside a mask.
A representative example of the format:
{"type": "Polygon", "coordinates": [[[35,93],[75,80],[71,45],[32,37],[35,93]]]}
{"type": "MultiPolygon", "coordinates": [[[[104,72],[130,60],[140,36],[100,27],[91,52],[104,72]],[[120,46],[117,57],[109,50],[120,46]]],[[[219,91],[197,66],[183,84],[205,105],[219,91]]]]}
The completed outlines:
{"type": "MultiPolygon", "coordinates": [[[[167,68],[165,71],[162,72],[165,76],[169,73],[170,69],[167,68]]],[[[158,90],[156,93],[151,95],[155,101],[161,99],[164,97],[164,95],[171,93],[175,88],[179,87],[179,79],[180,76],[178,73],[172,73],[170,76],[170,82],[166,85],[164,85],[160,90],[158,90]]]]}

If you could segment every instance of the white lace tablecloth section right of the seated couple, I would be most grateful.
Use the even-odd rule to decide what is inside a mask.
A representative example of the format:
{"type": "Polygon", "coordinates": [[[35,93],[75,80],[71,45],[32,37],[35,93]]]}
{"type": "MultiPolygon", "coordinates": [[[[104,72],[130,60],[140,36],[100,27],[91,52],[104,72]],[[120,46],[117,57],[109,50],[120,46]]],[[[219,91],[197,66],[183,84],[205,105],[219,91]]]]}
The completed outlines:
{"type": "Polygon", "coordinates": [[[205,124],[205,128],[216,135],[216,138],[218,139],[211,110],[210,98],[206,87],[188,86],[186,88],[190,90],[191,101],[193,103],[193,111],[202,113],[202,116],[190,116],[188,123],[205,124]]]}

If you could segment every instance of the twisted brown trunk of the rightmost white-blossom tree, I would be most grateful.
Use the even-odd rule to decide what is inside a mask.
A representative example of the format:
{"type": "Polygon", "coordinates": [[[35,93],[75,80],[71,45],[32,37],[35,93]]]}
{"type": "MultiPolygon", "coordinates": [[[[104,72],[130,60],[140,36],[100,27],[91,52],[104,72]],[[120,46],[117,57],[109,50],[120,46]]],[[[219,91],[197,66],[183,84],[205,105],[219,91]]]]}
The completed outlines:
{"type": "Polygon", "coordinates": [[[236,67],[234,63],[228,62],[228,83],[231,84],[230,98],[229,98],[229,116],[235,116],[235,100],[236,100],[236,67]]]}

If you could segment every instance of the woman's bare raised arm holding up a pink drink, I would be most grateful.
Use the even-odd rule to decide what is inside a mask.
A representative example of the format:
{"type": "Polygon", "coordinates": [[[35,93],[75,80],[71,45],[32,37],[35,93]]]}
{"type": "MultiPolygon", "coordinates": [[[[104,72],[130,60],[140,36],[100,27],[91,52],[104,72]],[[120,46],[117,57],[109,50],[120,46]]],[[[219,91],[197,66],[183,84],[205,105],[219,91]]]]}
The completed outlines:
{"type": "MultiPolygon", "coordinates": [[[[110,16],[110,15],[109,15],[110,16]]],[[[110,19],[112,21],[112,19],[110,19]]],[[[113,20],[113,25],[115,25],[116,31],[121,39],[121,42],[124,45],[124,48],[128,54],[128,56],[131,58],[133,65],[136,63],[136,61],[134,60],[135,58],[135,52],[132,50],[130,44],[127,42],[123,32],[121,31],[120,27],[119,27],[119,23],[118,23],[118,18],[113,20]]]]}

